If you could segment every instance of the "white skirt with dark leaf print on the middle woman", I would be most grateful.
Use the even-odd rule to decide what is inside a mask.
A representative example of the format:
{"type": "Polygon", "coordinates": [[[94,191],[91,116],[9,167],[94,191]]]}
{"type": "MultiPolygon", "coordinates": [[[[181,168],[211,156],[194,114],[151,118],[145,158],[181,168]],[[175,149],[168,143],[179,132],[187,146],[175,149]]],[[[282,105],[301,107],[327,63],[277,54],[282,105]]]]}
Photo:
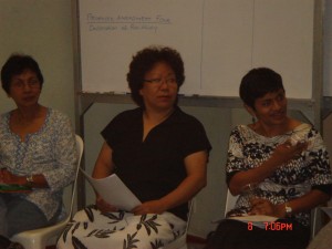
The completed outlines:
{"type": "Polygon", "coordinates": [[[167,245],[185,232],[186,222],[173,214],[135,216],[131,212],[101,214],[94,208],[79,211],[58,242],[59,249],[139,248],[167,245]]]}

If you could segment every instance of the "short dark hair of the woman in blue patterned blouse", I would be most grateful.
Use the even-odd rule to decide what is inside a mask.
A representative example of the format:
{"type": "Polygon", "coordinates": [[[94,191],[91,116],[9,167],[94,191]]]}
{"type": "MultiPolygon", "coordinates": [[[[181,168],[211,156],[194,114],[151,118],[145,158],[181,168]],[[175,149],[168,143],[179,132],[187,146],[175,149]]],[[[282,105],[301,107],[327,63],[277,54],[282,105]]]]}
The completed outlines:
{"type": "Polygon", "coordinates": [[[23,73],[25,70],[34,72],[42,86],[44,79],[37,61],[30,55],[14,53],[9,56],[1,69],[1,85],[7,94],[10,93],[10,82],[12,77],[23,73]]]}

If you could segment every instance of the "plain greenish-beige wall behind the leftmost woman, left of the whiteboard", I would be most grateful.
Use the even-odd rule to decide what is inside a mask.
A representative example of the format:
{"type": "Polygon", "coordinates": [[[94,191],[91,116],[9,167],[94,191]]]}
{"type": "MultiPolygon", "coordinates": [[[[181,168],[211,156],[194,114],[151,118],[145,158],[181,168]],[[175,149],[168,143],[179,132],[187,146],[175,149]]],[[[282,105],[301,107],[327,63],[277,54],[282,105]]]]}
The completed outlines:
{"type": "MultiPolygon", "coordinates": [[[[9,55],[32,55],[44,76],[40,103],[68,114],[74,124],[74,75],[70,0],[0,0],[0,65],[9,55]]],[[[0,113],[13,108],[0,93],[0,113]]]]}

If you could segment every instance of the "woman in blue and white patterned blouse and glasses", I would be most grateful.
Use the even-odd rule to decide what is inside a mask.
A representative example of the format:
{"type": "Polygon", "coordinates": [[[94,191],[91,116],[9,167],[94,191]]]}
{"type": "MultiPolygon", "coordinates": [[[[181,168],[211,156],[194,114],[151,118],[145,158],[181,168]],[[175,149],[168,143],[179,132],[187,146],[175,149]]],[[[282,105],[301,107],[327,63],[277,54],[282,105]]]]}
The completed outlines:
{"type": "Polygon", "coordinates": [[[1,84],[17,107],[0,117],[0,248],[8,238],[53,225],[62,191],[75,177],[75,136],[70,120],[39,104],[43,75],[37,61],[12,54],[1,84]]]}

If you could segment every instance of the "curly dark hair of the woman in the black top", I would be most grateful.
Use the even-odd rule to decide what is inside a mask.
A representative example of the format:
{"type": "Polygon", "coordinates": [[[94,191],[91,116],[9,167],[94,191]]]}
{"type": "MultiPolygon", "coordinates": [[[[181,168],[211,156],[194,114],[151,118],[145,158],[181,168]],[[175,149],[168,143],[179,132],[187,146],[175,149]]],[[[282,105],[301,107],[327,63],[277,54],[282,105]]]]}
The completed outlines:
{"type": "Polygon", "coordinates": [[[127,82],[133,101],[141,107],[144,107],[144,101],[139,94],[139,90],[143,87],[144,76],[158,62],[165,62],[173,69],[178,89],[185,81],[184,61],[176,50],[167,46],[148,46],[138,51],[129,64],[127,82]]]}

